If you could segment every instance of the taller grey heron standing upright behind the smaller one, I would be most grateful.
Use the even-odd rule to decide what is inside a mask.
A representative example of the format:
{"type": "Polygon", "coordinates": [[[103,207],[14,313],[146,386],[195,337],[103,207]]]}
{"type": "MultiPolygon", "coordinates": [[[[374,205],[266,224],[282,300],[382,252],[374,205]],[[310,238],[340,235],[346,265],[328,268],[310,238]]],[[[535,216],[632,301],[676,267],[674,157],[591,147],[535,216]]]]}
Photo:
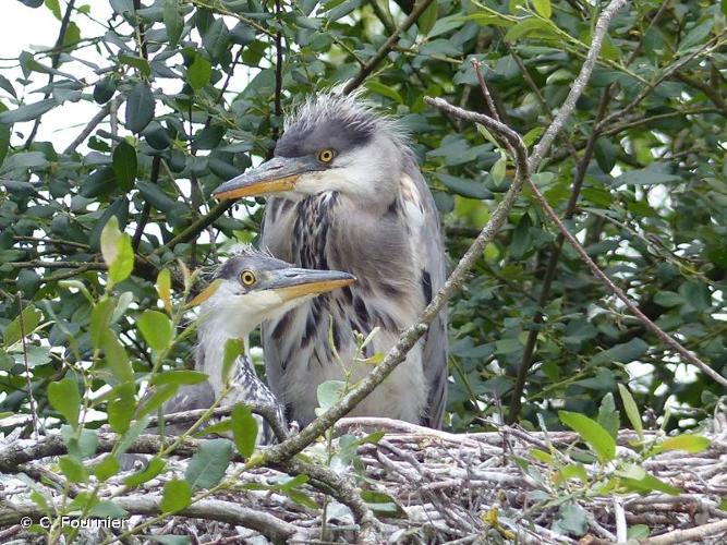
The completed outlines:
{"type": "MultiPolygon", "coordinates": [[[[301,425],[319,384],[344,376],[352,331],[379,332],[365,355],[387,352],[444,283],[446,257],[434,198],[398,125],[359,96],[310,98],[284,122],[274,158],[221,184],[218,198],[267,196],[262,243],[302,267],[336,268],[354,286],[263,324],[272,391],[301,425]]],[[[441,427],[447,388],[447,314],[352,415],[441,427]]],[[[353,380],[369,364],[351,364],[353,380]]]]}

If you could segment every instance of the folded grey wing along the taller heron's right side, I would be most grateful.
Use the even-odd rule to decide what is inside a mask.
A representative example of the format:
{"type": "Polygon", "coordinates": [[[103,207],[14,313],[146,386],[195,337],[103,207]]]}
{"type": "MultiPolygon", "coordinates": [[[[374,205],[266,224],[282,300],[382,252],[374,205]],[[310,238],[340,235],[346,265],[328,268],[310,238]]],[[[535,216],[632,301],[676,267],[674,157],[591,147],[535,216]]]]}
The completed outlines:
{"type": "MultiPolygon", "coordinates": [[[[424,207],[424,221],[421,223],[420,232],[412,234],[419,237],[420,240],[416,243],[424,249],[420,258],[423,261],[422,283],[425,294],[428,294],[428,296],[425,296],[428,304],[432,296],[439,291],[447,279],[447,262],[439,215],[432,192],[415,162],[407,164],[407,174],[413,180],[419,190],[424,207]]],[[[447,404],[447,377],[449,375],[447,346],[447,310],[445,308],[424,335],[423,350],[424,375],[429,386],[424,424],[437,429],[441,428],[447,404]]]]}

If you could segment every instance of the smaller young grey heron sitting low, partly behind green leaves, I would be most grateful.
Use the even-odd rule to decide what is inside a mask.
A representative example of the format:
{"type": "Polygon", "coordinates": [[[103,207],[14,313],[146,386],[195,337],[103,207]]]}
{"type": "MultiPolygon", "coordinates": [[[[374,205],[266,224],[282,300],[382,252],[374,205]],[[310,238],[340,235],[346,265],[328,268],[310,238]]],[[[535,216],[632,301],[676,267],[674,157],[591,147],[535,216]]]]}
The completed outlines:
{"type": "MultiPolygon", "coordinates": [[[[252,247],[245,247],[222,264],[214,276],[221,282],[199,307],[198,346],[195,368],[208,380],[182,387],[165,404],[165,413],[208,409],[223,393],[222,362],[228,339],[246,339],[263,320],[276,319],[294,306],[320,293],[355,281],[348,272],[296,268],[252,247]]],[[[239,401],[260,403],[278,411],[280,404],[265,386],[249,358],[240,355],[234,363],[233,389],[220,405],[239,401]]],[[[260,419],[258,419],[260,422],[260,419]]],[[[187,426],[189,427],[189,426],[187,426]]],[[[183,425],[170,426],[173,434],[183,425]]],[[[263,425],[260,443],[270,443],[270,429],[263,425]]]]}

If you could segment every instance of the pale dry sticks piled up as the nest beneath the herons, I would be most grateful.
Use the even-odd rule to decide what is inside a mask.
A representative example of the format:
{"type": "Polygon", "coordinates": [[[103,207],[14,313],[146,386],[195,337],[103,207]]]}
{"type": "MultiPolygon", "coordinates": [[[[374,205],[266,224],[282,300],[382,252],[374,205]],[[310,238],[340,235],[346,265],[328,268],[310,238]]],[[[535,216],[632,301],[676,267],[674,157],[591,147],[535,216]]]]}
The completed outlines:
{"type": "MultiPolygon", "coordinates": [[[[362,473],[346,471],[338,477],[350,489],[362,487],[389,495],[403,513],[402,518],[379,513],[377,523],[372,526],[375,543],[403,538],[412,526],[420,526],[435,542],[486,543],[494,534],[508,531],[513,532],[521,543],[575,543],[577,536],[560,535],[552,530],[558,518],[557,505],[535,500],[534,493],[553,500],[568,496],[578,502],[589,521],[582,543],[607,543],[617,534],[619,519],[614,514],[613,494],[589,495],[579,486],[558,488],[553,480],[555,469],[530,455],[534,445],[546,441],[561,452],[567,451],[579,443],[573,433],[555,432],[546,436],[501,426],[498,433],[455,435],[388,419],[346,419],[338,426],[358,437],[377,428],[386,432],[378,445],[365,444],[358,449],[362,473]],[[516,463],[516,457],[528,460],[531,469],[524,472],[516,463]],[[499,530],[484,522],[493,509],[499,511],[499,530]]],[[[100,435],[104,434],[99,434],[99,450],[106,445],[100,435]]],[[[634,437],[632,432],[619,435],[619,457],[638,458],[638,451],[630,446],[634,437]]],[[[647,432],[646,438],[655,439],[656,433],[647,432]]],[[[649,523],[651,536],[645,543],[690,543],[699,538],[719,543],[727,534],[727,513],[719,509],[720,496],[725,494],[723,475],[727,463],[727,438],[724,435],[711,438],[712,447],[702,452],[688,457],[681,452],[663,452],[642,463],[656,477],[690,491],[688,494],[677,497],[661,493],[616,496],[627,524],[649,523]]],[[[47,439],[41,443],[44,440],[47,439]]],[[[23,445],[14,451],[22,451],[27,441],[20,443],[23,445]]],[[[141,447],[137,450],[145,450],[148,446],[148,440],[142,438],[132,449],[141,447]]],[[[0,451],[3,470],[8,465],[4,453],[5,450],[0,451]]],[[[174,467],[175,472],[184,470],[182,462],[174,463],[179,464],[174,467]]],[[[286,472],[291,470],[296,472],[298,468],[289,467],[286,472]]],[[[595,475],[594,467],[586,464],[585,470],[589,475],[595,475]]],[[[241,484],[265,484],[280,475],[276,469],[256,469],[241,473],[239,481],[241,484]]],[[[111,499],[108,495],[123,476],[113,477],[100,499],[111,499]]],[[[159,489],[171,476],[149,482],[133,495],[122,495],[113,501],[132,514],[155,514],[158,512],[159,489]]],[[[311,486],[316,484],[318,476],[312,474],[310,484],[301,491],[322,505],[323,494],[328,492],[322,493],[325,487],[311,486]]],[[[14,528],[12,524],[16,524],[21,516],[40,514],[37,507],[27,501],[29,489],[21,484],[19,482],[17,492],[5,486],[3,496],[7,501],[0,507],[0,525],[14,528]]],[[[134,520],[130,521],[132,528],[134,520]]],[[[274,541],[284,537],[305,543],[320,535],[322,524],[318,511],[296,506],[284,495],[251,491],[226,491],[205,498],[178,513],[174,521],[180,529],[194,528],[197,535],[217,532],[217,537],[232,537],[239,532],[234,526],[245,526],[274,541]],[[226,524],[215,525],[213,521],[226,524]]],[[[351,519],[346,517],[328,520],[331,541],[353,540],[350,523],[351,519]]],[[[159,523],[147,530],[152,534],[162,533],[162,526],[163,523],[159,523]]]]}

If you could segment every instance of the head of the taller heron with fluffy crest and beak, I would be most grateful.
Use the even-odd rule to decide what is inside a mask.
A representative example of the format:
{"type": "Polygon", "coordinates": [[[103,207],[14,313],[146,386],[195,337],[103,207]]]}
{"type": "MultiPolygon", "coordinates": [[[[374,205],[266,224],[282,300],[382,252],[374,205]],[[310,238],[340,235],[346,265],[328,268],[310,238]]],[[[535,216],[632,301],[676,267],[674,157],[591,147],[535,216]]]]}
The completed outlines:
{"type": "Polygon", "coordinates": [[[218,198],[277,194],[290,199],[337,191],[380,198],[395,190],[411,152],[395,123],[359,96],[324,94],[286,120],[275,156],[223,183],[218,198]]]}

